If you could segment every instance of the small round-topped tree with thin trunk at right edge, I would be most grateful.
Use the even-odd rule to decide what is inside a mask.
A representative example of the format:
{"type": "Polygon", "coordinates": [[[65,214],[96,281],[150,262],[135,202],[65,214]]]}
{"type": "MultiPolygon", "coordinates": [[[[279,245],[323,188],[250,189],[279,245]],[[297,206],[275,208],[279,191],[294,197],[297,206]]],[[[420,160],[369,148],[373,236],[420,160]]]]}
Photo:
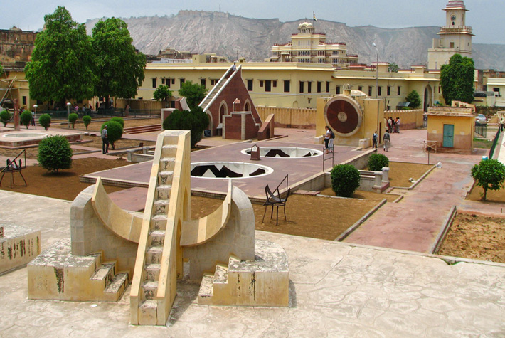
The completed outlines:
{"type": "Polygon", "coordinates": [[[505,180],[505,166],[497,159],[483,159],[472,168],[472,178],[477,186],[482,186],[484,194],[482,200],[486,201],[488,189],[499,190],[505,180]]]}

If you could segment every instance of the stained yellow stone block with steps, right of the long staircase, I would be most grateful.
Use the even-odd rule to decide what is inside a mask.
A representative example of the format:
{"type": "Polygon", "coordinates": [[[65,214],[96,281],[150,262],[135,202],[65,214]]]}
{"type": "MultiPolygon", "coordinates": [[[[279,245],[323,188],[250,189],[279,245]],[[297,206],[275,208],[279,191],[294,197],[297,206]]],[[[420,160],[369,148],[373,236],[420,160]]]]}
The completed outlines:
{"type": "Polygon", "coordinates": [[[289,268],[285,250],[275,243],[256,240],[255,256],[255,260],[245,261],[230,256],[228,265],[217,264],[213,274],[204,274],[198,304],[287,306],[289,268]]]}

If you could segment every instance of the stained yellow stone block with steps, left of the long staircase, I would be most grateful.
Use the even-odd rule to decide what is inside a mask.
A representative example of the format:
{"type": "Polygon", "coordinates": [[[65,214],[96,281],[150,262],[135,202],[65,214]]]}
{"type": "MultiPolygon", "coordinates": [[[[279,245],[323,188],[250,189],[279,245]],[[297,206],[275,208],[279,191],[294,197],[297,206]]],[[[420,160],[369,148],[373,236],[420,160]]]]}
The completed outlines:
{"type": "Polygon", "coordinates": [[[129,284],[127,272],[103,253],[71,254],[70,240],[55,243],[28,265],[30,299],[117,302],[129,284]]]}

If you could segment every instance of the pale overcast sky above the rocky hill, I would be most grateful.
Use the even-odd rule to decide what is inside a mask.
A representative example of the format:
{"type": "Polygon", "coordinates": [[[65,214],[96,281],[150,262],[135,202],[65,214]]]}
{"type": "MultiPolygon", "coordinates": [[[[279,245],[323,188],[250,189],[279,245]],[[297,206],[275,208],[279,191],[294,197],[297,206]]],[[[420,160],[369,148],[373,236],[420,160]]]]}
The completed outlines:
{"type": "MultiPolygon", "coordinates": [[[[16,26],[25,31],[43,27],[44,15],[57,6],[65,6],[75,21],[102,17],[170,16],[181,9],[228,12],[255,19],[278,18],[280,21],[317,19],[338,21],[348,26],[400,28],[413,26],[443,26],[448,0],[1,0],[0,28],[16,26]]],[[[467,25],[473,27],[474,43],[505,44],[505,1],[466,0],[470,12],[467,25]]]]}

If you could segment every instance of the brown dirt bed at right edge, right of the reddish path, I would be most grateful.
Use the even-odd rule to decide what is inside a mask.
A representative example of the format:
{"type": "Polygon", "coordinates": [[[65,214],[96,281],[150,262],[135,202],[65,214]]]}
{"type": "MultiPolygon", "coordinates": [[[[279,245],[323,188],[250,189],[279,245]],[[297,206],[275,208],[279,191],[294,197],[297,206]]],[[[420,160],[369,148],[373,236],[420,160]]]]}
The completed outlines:
{"type": "Polygon", "coordinates": [[[505,218],[458,213],[439,255],[505,263],[505,218]]]}

